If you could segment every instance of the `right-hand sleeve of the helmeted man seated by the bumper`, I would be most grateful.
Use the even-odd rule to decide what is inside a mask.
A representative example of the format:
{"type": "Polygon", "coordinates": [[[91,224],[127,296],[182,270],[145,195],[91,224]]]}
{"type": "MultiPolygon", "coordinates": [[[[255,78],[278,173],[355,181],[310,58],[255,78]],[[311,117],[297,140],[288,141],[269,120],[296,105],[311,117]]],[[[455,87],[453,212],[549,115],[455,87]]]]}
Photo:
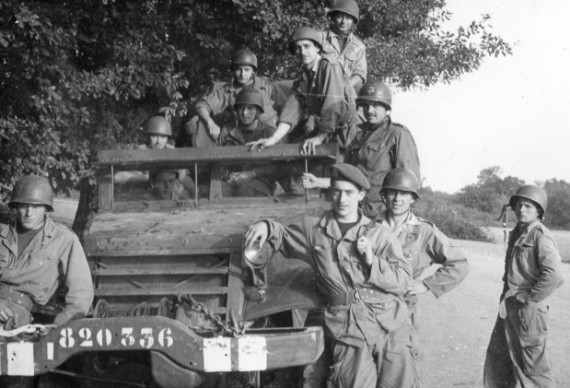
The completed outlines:
{"type": "Polygon", "coordinates": [[[54,319],[56,325],[85,316],[93,303],[93,282],[87,258],[77,236],[72,237],[68,255],[61,260],[67,293],[63,311],[54,319]]]}

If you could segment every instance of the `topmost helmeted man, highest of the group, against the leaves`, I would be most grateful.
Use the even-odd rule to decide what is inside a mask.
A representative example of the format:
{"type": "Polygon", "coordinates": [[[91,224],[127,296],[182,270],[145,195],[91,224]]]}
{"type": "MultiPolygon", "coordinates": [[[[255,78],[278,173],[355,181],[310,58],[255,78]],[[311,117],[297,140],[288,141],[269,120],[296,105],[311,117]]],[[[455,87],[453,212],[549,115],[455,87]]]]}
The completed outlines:
{"type": "Polygon", "coordinates": [[[354,35],[360,11],[354,0],[336,0],[328,12],[331,24],[323,33],[321,44],[326,55],[337,58],[358,93],[366,82],[366,46],[354,35]]]}

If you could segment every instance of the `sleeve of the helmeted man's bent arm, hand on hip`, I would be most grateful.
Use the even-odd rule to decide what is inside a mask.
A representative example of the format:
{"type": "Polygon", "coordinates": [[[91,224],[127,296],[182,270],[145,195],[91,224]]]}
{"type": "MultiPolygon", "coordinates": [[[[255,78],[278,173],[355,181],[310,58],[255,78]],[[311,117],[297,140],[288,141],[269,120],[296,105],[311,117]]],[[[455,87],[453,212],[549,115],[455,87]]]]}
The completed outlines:
{"type": "Polygon", "coordinates": [[[463,251],[437,228],[429,233],[420,254],[427,255],[432,263],[441,265],[433,275],[423,280],[437,298],[457,287],[469,272],[469,263],[463,251]]]}

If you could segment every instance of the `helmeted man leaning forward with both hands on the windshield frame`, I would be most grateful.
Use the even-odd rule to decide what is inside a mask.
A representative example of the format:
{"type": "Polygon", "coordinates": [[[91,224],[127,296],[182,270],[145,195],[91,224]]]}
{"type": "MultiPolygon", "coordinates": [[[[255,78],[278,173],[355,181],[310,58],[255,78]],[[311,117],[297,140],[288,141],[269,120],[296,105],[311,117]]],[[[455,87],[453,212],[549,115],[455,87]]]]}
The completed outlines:
{"type": "MultiPolygon", "coordinates": [[[[341,151],[356,131],[354,89],[340,63],[321,56],[322,33],[301,27],[293,34],[290,50],[299,58],[301,72],[287,98],[275,133],[249,143],[252,149],[277,144],[304,119],[302,151],[313,154],[323,141],[338,141],[341,151]],[[308,113],[308,116],[305,115],[308,113]]],[[[291,136],[295,141],[295,136],[291,136]]]]}

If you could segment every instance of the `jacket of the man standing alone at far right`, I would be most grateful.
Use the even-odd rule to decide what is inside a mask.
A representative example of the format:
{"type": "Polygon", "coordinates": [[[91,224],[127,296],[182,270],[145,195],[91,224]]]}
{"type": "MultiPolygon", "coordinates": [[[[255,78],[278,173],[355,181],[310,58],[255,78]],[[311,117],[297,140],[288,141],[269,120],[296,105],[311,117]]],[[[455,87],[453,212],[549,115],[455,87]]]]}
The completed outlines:
{"type": "Polygon", "coordinates": [[[509,234],[503,295],[527,293],[528,303],[542,302],[564,281],[561,263],[554,237],[540,220],[517,225],[509,234]]]}

